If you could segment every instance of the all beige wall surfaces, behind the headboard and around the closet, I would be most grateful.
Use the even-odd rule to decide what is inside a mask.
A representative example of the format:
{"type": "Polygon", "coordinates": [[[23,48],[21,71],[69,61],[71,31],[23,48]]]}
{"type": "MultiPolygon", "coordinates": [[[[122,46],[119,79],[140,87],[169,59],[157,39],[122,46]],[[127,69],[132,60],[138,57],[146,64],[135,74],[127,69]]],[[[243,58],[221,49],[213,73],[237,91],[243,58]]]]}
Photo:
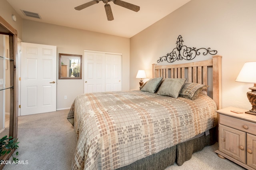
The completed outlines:
{"type": "MultiPolygon", "coordinates": [[[[123,90],[138,89],[138,69],[145,69],[151,77],[151,64],[176,47],[179,35],[187,46],[216,49],[223,55],[222,107],[250,109],[246,92],[253,84],[235,79],[245,61],[256,61],[255,0],[192,0],[130,40],[28,20],[23,23],[6,0],[0,0],[0,4],[0,16],[18,30],[18,38],[24,42],[56,45],[58,53],[83,55],[84,49],[122,53],[123,90]],[[12,14],[16,14],[16,22],[12,21],[12,14]]],[[[70,107],[73,98],[82,92],[83,80],[58,80],[57,109],[70,107]],[[68,87],[77,91],[67,91],[68,87]]]]}

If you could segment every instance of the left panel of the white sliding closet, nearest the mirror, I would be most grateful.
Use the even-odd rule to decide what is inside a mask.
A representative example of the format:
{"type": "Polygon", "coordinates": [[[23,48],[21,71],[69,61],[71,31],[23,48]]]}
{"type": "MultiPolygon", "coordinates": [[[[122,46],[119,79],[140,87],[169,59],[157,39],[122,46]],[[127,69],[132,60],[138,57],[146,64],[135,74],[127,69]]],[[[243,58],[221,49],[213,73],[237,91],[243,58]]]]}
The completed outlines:
{"type": "Polygon", "coordinates": [[[84,93],[105,91],[105,54],[84,52],[84,93]]]}

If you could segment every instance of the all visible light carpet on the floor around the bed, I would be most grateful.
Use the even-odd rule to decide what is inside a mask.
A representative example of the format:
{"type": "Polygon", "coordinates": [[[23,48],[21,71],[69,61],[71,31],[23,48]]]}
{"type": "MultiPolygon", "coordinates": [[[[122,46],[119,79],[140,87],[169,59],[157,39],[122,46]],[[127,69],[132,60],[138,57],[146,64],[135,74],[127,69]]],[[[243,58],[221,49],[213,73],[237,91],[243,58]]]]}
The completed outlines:
{"type": "MultiPolygon", "coordinates": [[[[68,110],[62,110],[19,117],[17,158],[28,164],[6,164],[3,170],[70,170],[76,135],[67,114],[68,110]]],[[[166,170],[243,170],[219,158],[214,152],[217,148],[217,143],[207,146],[182,166],[174,164],[166,170]]]]}

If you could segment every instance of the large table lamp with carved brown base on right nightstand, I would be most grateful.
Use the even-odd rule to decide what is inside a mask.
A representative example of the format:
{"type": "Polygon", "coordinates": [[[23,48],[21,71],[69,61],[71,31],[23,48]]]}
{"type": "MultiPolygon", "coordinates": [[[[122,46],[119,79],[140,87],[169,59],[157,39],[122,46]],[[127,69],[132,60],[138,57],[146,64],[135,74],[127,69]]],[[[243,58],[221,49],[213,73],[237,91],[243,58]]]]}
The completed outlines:
{"type": "Polygon", "coordinates": [[[236,81],[254,83],[254,86],[249,88],[252,91],[247,92],[247,98],[252,105],[252,109],[245,113],[256,115],[256,61],[244,63],[236,81]]]}

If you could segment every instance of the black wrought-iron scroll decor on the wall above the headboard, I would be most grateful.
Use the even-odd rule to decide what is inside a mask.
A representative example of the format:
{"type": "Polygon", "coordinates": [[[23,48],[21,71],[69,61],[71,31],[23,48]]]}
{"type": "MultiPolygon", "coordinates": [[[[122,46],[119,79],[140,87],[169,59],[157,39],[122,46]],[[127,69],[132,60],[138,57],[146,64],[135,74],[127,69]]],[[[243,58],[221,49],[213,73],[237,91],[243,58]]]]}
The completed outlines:
{"type": "Polygon", "coordinates": [[[168,53],[166,56],[160,57],[160,59],[157,60],[158,63],[167,61],[168,63],[172,63],[176,60],[192,60],[196,57],[196,55],[200,55],[201,52],[203,55],[207,55],[210,53],[211,55],[215,55],[217,53],[216,50],[210,50],[210,47],[208,49],[206,48],[199,48],[196,49],[195,47],[187,47],[186,45],[182,44],[182,36],[179,36],[177,39],[177,47],[172,50],[172,52],[168,53]]]}

